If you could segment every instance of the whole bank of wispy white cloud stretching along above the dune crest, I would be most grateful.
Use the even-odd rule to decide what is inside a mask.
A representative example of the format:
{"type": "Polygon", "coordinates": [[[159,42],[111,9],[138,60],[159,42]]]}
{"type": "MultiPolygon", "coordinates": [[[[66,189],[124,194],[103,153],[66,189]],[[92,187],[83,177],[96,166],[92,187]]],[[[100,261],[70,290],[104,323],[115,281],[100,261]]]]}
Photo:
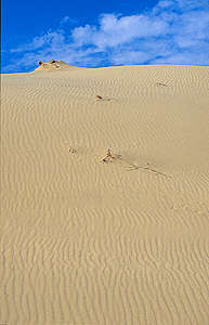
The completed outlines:
{"type": "Polygon", "coordinates": [[[69,28],[69,21],[65,16],[56,30],[12,49],[15,62],[6,70],[29,69],[51,57],[89,67],[209,64],[209,5],[205,0],[161,0],[136,15],[102,14],[97,25],[69,28]]]}

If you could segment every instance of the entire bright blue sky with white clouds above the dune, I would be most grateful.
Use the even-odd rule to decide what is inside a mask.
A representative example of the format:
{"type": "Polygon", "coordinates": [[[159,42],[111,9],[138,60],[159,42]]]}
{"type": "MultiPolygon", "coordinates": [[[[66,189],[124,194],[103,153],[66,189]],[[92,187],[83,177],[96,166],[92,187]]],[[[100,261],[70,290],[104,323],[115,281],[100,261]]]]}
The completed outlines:
{"type": "Polygon", "coordinates": [[[3,73],[38,61],[100,67],[209,65],[209,1],[28,1],[2,3],[3,73]]]}

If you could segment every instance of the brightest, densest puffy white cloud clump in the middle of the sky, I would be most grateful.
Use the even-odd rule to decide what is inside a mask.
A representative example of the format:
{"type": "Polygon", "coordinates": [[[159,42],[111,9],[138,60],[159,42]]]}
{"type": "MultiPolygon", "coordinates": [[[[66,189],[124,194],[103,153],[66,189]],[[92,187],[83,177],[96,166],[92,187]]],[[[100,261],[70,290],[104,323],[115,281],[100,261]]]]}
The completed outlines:
{"type": "Polygon", "coordinates": [[[73,38],[76,44],[92,44],[105,49],[126,44],[134,39],[157,37],[165,34],[167,28],[167,22],[157,16],[117,17],[106,14],[101,17],[97,28],[89,25],[75,28],[73,38]]]}

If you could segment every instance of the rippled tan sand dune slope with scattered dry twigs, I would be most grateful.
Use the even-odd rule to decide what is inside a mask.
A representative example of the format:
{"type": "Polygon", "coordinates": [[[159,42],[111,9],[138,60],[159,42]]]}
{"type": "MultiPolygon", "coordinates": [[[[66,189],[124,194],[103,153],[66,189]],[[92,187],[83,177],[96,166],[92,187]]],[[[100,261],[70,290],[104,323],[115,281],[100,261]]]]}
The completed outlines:
{"type": "Polygon", "coordinates": [[[209,68],[1,82],[0,324],[208,325],[209,68]]]}

